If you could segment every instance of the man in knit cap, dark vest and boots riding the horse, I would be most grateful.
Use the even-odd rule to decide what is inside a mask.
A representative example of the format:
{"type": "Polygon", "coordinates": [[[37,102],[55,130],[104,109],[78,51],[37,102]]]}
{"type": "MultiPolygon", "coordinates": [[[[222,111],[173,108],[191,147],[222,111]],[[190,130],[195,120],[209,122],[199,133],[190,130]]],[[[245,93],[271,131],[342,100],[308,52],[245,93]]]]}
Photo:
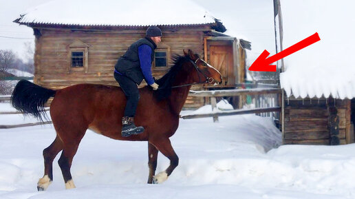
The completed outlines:
{"type": "Polygon", "coordinates": [[[122,117],[121,134],[123,137],[144,132],[144,127],[136,127],[134,124],[134,116],[140,98],[138,85],[142,83],[144,78],[148,85],[153,87],[153,90],[158,90],[159,85],[155,83],[151,75],[151,63],[154,58],[154,50],[161,41],[161,36],[160,28],[155,25],[150,26],[146,36],[133,43],[115,65],[114,77],[127,97],[125,114],[122,117]]]}

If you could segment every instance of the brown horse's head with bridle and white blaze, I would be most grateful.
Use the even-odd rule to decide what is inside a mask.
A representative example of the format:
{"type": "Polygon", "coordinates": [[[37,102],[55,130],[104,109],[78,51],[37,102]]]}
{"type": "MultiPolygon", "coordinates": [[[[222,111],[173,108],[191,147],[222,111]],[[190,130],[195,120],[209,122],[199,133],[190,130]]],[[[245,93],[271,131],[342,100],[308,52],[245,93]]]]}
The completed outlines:
{"type": "Polygon", "coordinates": [[[184,55],[189,57],[192,68],[195,68],[196,73],[193,74],[193,81],[196,83],[211,83],[218,85],[222,83],[222,75],[212,65],[209,65],[200,56],[194,54],[192,50],[183,50],[184,55]]]}

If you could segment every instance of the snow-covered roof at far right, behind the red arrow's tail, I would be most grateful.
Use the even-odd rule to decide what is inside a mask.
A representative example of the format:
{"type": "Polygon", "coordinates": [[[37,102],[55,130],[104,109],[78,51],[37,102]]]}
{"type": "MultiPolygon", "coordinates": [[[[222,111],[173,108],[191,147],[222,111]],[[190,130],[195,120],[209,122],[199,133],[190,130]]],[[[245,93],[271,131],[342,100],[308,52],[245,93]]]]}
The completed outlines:
{"type": "Polygon", "coordinates": [[[283,49],[315,32],[321,38],[284,59],[280,81],[288,96],[355,97],[354,6],[345,0],[281,1],[283,49]]]}

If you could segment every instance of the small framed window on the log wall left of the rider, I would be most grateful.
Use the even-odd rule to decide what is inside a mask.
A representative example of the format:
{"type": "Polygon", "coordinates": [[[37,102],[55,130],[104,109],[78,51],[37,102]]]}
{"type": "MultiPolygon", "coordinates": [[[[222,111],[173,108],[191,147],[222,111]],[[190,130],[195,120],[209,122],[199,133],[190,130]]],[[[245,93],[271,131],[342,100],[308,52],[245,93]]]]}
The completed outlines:
{"type": "Polygon", "coordinates": [[[67,73],[88,71],[89,45],[76,40],[67,46],[67,53],[67,73]]]}

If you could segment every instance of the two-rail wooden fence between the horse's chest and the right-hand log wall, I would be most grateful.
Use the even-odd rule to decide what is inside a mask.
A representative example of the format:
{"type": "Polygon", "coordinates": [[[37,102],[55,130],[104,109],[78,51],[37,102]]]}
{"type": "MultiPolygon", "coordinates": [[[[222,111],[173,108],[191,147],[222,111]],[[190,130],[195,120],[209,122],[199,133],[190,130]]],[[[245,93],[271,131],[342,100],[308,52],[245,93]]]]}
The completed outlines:
{"type": "Polygon", "coordinates": [[[244,96],[244,95],[266,95],[266,94],[277,94],[279,97],[275,100],[279,101],[281,104],[281,90],[279,88],[253,88],[253,89],[244,89],[244,90],[213,90],[213,91],[190,91],[189,96],[200,96],[200,97],[209,97],[211,98],[211,105],[212,105],[212,113],[208,114],[191,114],[181,116],[184,119],[189,118],[205,118],[205,117],[213,117],[213,121],[218,121],[218,116],[230,116],[230,115],[237,115],[237,114],[259,114],[265,112],[281,112],[281,106],[275,107],[257,107],[254,109],[235,109],[230,111],[223,111],[223,112],[214,112],[217,109],[217,97],[224,97],[224,96],[244,96]]]}

